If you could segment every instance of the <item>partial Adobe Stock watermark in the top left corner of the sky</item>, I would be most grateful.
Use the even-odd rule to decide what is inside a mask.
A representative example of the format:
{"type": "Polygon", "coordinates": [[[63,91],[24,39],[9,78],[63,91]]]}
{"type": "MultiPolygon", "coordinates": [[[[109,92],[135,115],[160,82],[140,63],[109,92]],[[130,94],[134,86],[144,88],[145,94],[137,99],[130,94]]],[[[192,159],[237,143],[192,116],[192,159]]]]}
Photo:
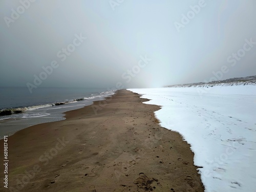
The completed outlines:
{"type": "Polygon", "coordinates": [[[36,0],[20,0],[19,1],[20,6],[18,6],[15,10],[11,9],[11,12],[12,12],[11,16],[10,17],[8,17],[8,16],[4,17],[4,20],[5,20],[5,23],[6,23],[7,27],[9,28],[10,24],[14,23],[15,20],[17,20],[20,17],[20,15],[25,13],[26,9],[30,8],[31,3],[34,3],[35,1],[36,0]]]}

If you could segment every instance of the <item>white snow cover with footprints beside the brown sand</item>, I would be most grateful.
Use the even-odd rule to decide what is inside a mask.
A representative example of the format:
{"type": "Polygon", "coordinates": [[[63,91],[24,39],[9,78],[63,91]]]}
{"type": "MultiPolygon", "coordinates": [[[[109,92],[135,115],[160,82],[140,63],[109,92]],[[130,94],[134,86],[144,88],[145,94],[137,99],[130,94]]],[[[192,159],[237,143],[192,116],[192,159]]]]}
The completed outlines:
{"type": "Polygon", "coordinates": [[[205,191],[256,191],[256,86],[128,90],[191,145],[205,191]]]}

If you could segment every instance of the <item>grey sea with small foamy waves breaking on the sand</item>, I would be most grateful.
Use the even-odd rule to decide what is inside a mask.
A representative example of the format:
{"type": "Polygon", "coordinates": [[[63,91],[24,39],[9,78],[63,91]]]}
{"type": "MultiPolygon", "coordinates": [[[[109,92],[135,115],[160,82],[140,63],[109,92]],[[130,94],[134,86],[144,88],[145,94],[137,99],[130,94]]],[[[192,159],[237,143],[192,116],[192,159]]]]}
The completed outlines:
{"type": "Polygon", "coordinates": [[[106,88],[37,88],[32,93],[0,88],[0,139],[35,124],[63,120],[64,112],[113,94],[106,88]]]}

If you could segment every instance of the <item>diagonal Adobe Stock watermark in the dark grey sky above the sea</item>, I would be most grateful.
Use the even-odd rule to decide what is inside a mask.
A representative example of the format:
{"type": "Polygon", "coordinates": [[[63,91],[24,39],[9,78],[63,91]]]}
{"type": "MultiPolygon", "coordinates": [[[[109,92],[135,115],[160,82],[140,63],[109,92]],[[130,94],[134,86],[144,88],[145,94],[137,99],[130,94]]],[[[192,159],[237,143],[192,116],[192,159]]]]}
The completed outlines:
{"type": "MultiPolygon", "coordinates": [[[[75,39],[73,39],[72,44],[69,44],[66,48],[62,48],[60,51],[58,51],[56,57],[62,62],[65,61],[67,57],[70,56],[86,39],[87,37],[83,37],[81,33],[79,35],[75,34],[75,39]]],[[[53,70],[57,69],[58,67],[59,63],[57,60],[53,60],[49,66],[43,66],[39,75],[34,75],[33,83],[27,82],[26,86],[29,92],[32,93],[32,90],[40,86],[42,81],[46,80],[47,77],[53,73],[53,70]]]]}

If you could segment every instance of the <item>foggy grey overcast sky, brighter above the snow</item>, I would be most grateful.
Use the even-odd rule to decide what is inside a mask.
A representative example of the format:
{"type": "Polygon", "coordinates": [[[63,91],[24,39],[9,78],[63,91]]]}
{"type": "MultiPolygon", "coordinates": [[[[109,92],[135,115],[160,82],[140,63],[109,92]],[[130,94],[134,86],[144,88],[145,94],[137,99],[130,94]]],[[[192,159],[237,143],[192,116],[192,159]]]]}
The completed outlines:
{"type": "Polygon", "coordinates": [[[220,79],[256,75],[255,9],[254,0],[2,0],[0,86],[38,77],[38,87],[150,88],[209,81],[221,69],[220,79]]]}

